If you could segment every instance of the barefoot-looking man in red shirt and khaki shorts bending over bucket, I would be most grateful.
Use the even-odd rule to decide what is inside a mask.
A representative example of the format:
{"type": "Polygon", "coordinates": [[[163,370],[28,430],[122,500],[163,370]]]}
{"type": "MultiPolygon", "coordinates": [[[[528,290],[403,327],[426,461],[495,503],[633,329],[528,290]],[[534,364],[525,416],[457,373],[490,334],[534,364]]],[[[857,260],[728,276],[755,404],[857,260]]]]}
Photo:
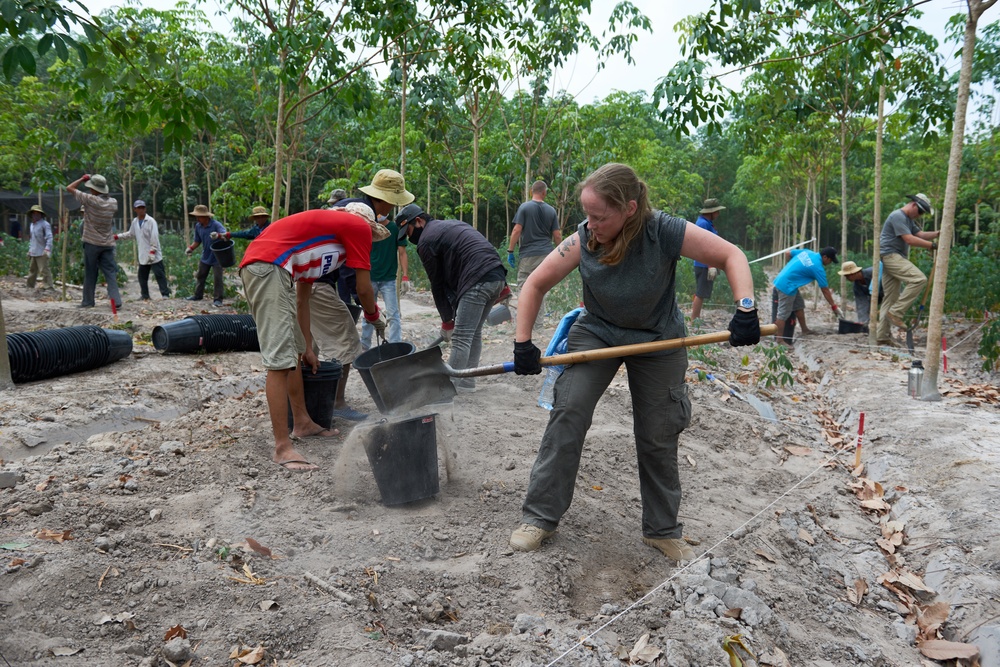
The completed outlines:
{"type": "Polygon", "coordinates": [[[372,239],[389,236],[371,209],[351,204],[336,211],[296,213],[271,223],[247,246],[240,264],[243,291],[257,323],[260,353],[267,368],[264,391],[274,433],[274,462],[295,472],[316,470],[292,446],[293,438],[330,437],[306,411],[300,360],[315,373],[319,360],[309,331],[312,283],[342,265],[358,276],[358,296],[368,321],[385,335],[370,280],[372,239]],[[288,432],[288,403],[293,428],[288,432]]]}

